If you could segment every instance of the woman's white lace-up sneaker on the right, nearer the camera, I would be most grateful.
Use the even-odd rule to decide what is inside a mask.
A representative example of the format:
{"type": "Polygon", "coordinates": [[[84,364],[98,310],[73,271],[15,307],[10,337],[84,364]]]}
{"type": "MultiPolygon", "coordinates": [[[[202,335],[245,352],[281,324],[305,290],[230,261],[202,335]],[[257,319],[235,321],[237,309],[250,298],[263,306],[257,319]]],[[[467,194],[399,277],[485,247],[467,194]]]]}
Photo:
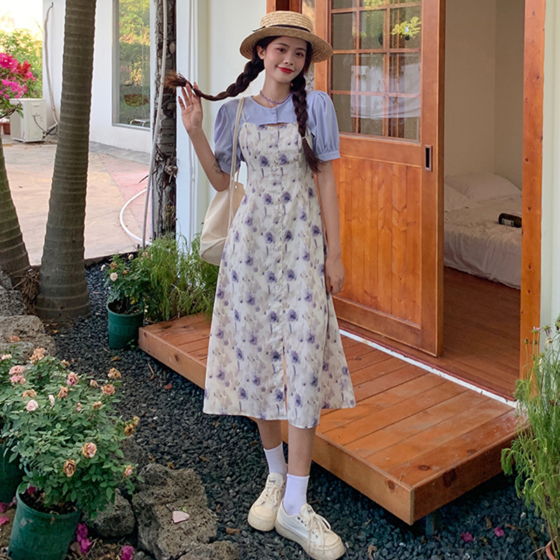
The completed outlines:
{"type": "Polygon", "coordinates": [[[280,505],[274,527],[283,537],[297,542],[315,560],[335,560],[344,554],[342,539],[308,503],[302,505],[296,515],[288,515],[280,505]]]}

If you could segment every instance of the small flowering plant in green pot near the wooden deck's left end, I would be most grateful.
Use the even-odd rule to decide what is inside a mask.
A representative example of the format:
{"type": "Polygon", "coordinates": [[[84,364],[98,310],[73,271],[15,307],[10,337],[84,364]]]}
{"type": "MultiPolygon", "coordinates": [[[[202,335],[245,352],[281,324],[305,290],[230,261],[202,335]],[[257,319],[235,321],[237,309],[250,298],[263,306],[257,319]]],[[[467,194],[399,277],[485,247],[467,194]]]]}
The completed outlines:
{"type": "Polygon", "coordinates": [[[125,348],[138,340],[148,291],[148,271],[140,265],[146,258],[146,251],[139,256],[131,253],[127,258],[115,255],[108,267],[102,267],[105,286],[109,286],[107,313],[111,348],[125,348]]]}

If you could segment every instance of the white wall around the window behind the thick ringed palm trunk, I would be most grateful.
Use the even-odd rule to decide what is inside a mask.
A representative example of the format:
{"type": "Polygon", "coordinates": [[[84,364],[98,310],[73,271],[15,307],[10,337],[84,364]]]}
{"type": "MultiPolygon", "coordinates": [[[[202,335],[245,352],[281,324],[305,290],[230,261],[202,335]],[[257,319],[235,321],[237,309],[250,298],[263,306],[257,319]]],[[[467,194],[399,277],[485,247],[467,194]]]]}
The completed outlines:
{"type": "MultiPolygon", "coordinates": [[[[64,50],[64,0],[43,0],[43,13],[49,6],[48,51],[52,76],[52,93],[57,111],[60,111],[62,88],[62,53],[64,50]]],[[[149,152],[149,129],[113,125],[113,0],[97,0],[95,44],[92,83],[92,110],[90,141],[149,152]]],[[[43,80],[43,97],[49,99],[48,86],[43,80]]],[[[52,113],[49,124],[54,122],[52,113]]]]}

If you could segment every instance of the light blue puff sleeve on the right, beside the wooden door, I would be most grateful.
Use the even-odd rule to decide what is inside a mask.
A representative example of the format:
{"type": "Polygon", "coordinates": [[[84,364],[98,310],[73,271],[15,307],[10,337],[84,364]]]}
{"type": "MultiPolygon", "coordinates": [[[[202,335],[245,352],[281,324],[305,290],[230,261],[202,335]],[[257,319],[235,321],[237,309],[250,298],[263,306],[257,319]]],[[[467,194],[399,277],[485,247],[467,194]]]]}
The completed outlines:
{"type": "Polygon", "coordinates": [[[337,113],[332,99],[325,92],[308,94],[308,127],[313,135],[313,151],[323,161],[340,157],[337,113]]]}

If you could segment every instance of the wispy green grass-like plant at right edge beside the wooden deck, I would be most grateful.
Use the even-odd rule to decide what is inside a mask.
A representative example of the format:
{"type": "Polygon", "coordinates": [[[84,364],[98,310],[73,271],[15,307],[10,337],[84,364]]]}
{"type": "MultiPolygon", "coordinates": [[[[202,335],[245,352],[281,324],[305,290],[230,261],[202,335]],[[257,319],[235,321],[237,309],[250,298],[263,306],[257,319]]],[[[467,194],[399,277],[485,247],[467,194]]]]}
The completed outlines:
{"type": "Polygon", "coordinates": [[[517,381],[519,429],[502,451],[502,466],[506,474],[516,471],[518,496],[545,520],[547,554],[554,560],[560,559],[560,318],[535,329],[533,349],[528,374],[517,381]],[[545,343],[538,351],[542,334],[545,343]]]}

